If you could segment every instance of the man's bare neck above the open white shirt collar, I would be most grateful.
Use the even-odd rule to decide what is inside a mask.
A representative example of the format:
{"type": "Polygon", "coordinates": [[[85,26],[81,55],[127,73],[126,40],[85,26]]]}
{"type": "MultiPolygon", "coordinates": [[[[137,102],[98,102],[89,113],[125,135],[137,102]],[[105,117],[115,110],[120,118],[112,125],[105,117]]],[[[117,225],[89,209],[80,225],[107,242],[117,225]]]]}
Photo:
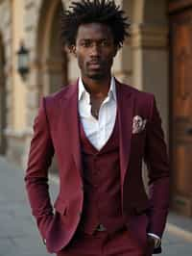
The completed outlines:
{"type": "Polygon", "coordinates": [[[82,77],[85,90],[93,96],[107,96],[110,87],[111,77],[101,80],[93,80],[87,77],[82,77]]]}

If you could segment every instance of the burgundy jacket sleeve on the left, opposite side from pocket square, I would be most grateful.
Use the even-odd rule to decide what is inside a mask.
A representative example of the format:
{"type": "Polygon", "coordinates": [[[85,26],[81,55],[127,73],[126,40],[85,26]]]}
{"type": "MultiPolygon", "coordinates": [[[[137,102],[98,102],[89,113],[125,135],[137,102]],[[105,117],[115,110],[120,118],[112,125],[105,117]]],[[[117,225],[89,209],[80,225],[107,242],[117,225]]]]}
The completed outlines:
{"type": "Polygon", "coordinates": [[[46,115],[45,98],[43,98],[34,122],[34,136],[31,141],[25,176],[32,213],[36,218],[43,239],[46,238],[46,233],[53,219],[48,186],[48,168],[51,165],[53,155],[54,147],[46,115]]]}

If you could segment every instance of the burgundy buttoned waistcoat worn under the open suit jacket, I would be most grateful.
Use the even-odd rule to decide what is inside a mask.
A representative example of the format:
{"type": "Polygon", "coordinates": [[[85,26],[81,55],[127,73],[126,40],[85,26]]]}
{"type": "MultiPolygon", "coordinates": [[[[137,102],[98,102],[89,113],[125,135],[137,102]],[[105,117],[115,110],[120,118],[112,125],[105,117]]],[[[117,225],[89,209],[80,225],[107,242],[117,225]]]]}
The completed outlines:
{"type": "Polygon", "coordinates": [[[92,234],[102,223],[108,233],[122,228],[125,220],[121,211],[119,129],[116,117],[113,132],[98,151],[84,134],[80,122],[84,169],[84,210],[81,229],[92,234]]]}

